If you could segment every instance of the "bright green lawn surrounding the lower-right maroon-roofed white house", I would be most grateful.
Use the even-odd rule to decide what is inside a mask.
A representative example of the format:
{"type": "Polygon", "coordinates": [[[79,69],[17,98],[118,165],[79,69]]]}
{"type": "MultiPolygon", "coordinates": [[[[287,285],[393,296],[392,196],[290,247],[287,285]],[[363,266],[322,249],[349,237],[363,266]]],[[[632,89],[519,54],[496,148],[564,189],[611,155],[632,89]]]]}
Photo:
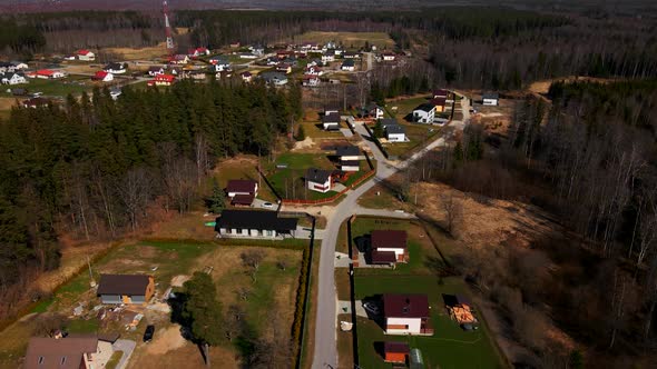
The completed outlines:
{"type": "MultiPolygon", "coordinates": [[[[381,293],[425,293],[431,306],[432,337],[385,336],[382,328],[372,320],[359,318],[359,357],[362,368],[392,368],[383,362],[375,345],[385,340],[405,341],[411,348],[419,348],[425,368],[441,369],[496,369],[503,368],[496,348],[488,338],[486,325],[473,332],[463,331],[452,321],[444,309],[442,293],[464,293],[465,286],[460,279],[448,278],[442,282],[429,276],[369,276],[357,277],[356,299],[381,293]]],[[[478,316],[478,319],[482,319],[478,316]]]]}

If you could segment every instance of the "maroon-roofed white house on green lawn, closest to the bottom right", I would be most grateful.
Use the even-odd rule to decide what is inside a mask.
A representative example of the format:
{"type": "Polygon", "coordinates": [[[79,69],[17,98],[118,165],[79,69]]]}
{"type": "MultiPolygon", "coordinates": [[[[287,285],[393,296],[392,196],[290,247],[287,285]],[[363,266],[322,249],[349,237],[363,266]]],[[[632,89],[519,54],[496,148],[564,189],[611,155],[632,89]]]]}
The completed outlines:
{"type": "Polygon", "coordinates": [[[383,295],[386,335],[432,336],[426,295],[383,295]]]}

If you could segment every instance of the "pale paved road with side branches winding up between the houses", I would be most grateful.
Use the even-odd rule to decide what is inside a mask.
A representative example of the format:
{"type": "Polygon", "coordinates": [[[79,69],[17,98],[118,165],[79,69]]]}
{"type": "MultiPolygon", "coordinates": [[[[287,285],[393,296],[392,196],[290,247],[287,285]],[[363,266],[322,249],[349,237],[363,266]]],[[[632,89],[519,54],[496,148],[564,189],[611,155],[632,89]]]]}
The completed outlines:
{"type": "Polygon", "coordinates": [[[322,249],[320,252],[320,282],[317,293],[317,316],[315,325],[315,352],[313,355],[313,368],[337,368],[337,349],[336,349],[336,295],[334,283],[334,258],[335,245],[337,243],[337,233],[340,225],[342,225],[353,213],[363,215],[379,215],[393,216],[396,218],[412,218],[413,215],[399,213],[390,210],[364,209],[357,206],[357,199],[374,187],[379,181],[382,181],[394,174],[399,169],[406,167],[411,161],[420,158],[428,151],[444,144],[444,139],[439,138],[429,143],[424,149],[418,151],[406,161],[400,163],[392,163],[385,160],[383,153],[369,140],[370,134],[362,128],[362,124],[356,124],[356,131],[365,139],[365,142],[372,150],[372,153],[379,161],[376,168],[376,176],[374,180],[363,183],[353,191],[347,192],[342,202],[335,207],[333,216],[330,217],[329,223],[322,240],[322,249]]]}

